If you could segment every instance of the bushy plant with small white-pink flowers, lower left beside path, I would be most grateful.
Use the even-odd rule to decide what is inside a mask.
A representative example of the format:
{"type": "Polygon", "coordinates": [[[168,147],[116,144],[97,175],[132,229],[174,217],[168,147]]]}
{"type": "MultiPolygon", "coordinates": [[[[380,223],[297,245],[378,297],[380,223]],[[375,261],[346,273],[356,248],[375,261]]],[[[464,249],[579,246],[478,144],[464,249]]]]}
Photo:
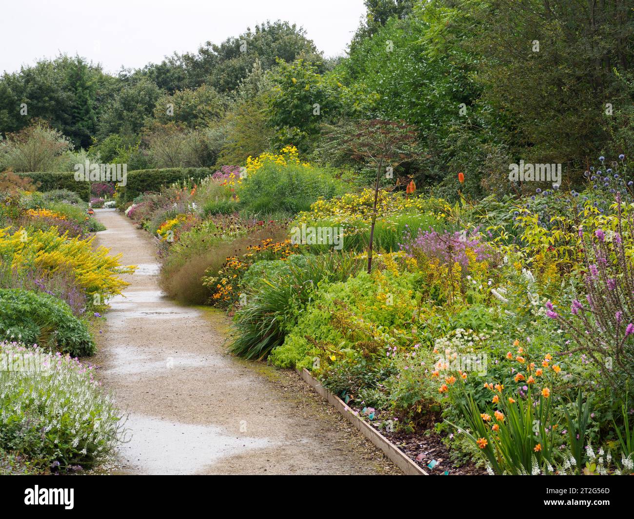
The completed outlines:
{"type": "Polygon", "coordinates": [[[20,344],[0,343],[0,358],[0,474],[90,468],[122,440],[122,416],[92,366],[20,344]]]}

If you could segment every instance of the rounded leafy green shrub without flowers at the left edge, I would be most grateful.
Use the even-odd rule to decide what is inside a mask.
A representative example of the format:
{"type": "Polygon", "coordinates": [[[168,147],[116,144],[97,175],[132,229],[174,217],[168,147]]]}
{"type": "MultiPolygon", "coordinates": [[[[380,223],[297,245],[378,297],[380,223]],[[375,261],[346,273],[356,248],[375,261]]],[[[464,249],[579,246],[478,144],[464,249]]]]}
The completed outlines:
{"type": "Polygon", "coordinates": [[[48,293],[0,289],[0,336],[72,356],[92,355],[93,338],[68,304],[48,293]]]}

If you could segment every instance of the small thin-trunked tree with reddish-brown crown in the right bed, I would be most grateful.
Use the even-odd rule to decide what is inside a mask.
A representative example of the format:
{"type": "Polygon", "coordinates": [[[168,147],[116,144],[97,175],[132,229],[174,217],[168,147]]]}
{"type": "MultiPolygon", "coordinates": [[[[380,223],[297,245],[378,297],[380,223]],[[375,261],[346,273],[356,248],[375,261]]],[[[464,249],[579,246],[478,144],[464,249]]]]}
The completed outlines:
{"type": "Polygon", "coordinates": [[[333,132],[332,137],[344,146],[354,160],[377,170],[368,243],[368,274],[370,274],[381,176],[396,178],[396,176],[389,176],[389,172],[400,163],[417,157],[418,132],[414,126],[403,121],[372,119],[354,122],[352,127],[339,127],[339,131],[333,132]]]}

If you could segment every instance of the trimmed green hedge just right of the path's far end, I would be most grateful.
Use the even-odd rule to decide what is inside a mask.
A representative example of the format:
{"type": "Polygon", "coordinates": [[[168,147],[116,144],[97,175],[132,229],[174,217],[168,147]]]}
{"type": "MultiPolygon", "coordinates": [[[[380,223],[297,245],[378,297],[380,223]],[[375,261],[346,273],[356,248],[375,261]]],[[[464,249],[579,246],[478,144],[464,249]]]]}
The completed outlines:
{"type": "Polygon", "coordinates": [[[120,204],[132,202],[134,198],[148,191],[160,191],[161,186],[192,178],[198,181],[212,174],[207,167],[173,167],[164,169],[137,169],[127,172],[126,186],[117,186],[117,201],[120,204]]]}

